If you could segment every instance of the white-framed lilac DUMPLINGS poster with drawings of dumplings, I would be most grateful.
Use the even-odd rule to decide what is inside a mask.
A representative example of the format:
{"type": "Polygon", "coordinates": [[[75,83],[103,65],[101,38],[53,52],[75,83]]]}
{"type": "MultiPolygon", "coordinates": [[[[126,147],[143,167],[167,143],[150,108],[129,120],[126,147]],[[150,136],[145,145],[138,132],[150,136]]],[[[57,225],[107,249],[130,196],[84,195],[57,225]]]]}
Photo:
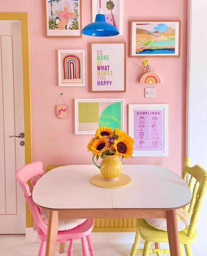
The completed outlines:
{"type": "Polygon", "coordinates": [[[129,136],[133,157],[167,157],[168,105],[129,104],[129,136]]]}

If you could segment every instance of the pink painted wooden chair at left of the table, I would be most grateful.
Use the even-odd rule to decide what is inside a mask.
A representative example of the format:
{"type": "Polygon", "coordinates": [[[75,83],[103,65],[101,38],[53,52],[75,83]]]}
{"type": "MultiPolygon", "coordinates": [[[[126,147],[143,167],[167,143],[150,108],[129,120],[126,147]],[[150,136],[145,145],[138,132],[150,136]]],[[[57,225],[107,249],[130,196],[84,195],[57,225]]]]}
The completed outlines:
{"type": "MultiPolygon", "coordinates": [[[[37,224],[37,234],[41,240],[38,256],[45,255],[46,240],[47,240],[47,224],[41,218],[41,208],[36,206],[32,200],[32,189],[28,185],[28,180],[31,179],[34,186],[36,181],[34,176],[41,177],[43,175],[43,164],[41,162],[33,162],[27,164],[17,170],[15,178],[17,179],[21,189],[23,190],[26,201],[28,202],[30,211],[37,224]]],[[[85,222],[77,226],[76,228],[64,231],[58,231],[57,242],[60,243],[59,252],[63,253],[65,249],[65,242],[70,241],[68,248],[68,256],[72,256],[73,253],[73,240],[81,239],[83,256],[89,256],[88,246],[91,256],[94,256],[94,250],[92,246],[91,231],[94,225],[93,219],[87,219],[85,222]],[[88,242],[88,245],[87,245],[88,242]]]]}

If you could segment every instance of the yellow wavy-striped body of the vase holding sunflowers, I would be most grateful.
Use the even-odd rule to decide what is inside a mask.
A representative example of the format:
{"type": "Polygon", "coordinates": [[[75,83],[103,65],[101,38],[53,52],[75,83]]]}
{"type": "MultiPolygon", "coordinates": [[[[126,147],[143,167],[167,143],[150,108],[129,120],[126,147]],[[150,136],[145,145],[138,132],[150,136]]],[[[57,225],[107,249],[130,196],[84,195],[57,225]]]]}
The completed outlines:
{"type": "Polygon", "coordinates": [[[100,172],[107,181],[118,179],[122,171],[122,164],[118,155],[105,155],[100,164],[100,172]]]}

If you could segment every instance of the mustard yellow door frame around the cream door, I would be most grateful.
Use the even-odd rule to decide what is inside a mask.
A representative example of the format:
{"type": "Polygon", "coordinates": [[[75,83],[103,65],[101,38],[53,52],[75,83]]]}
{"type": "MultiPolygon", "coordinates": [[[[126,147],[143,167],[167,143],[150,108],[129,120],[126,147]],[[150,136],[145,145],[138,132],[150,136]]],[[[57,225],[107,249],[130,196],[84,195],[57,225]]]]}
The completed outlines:
{"type": "MultiPolygon", "coordinates": [[[[22,64],[25,121],[25,164],[32,162],[31,100],[29,65],[29,21],[28,13],[0,13],[0,20],[20,20],[22,25],[22,64]]],[[[33,227],[32,214],[26,204],[26,227],[33,227]]]]}

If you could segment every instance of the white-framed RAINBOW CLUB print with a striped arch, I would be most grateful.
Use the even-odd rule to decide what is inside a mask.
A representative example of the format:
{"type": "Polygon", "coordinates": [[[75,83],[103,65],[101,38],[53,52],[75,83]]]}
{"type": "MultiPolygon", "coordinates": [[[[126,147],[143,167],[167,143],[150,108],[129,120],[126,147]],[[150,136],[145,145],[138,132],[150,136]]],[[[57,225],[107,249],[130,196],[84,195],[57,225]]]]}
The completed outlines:
{"type": "Polygon", "coordinates": [[[59,86],[85,86],[84,50],[58,50],[59,86]]]}

